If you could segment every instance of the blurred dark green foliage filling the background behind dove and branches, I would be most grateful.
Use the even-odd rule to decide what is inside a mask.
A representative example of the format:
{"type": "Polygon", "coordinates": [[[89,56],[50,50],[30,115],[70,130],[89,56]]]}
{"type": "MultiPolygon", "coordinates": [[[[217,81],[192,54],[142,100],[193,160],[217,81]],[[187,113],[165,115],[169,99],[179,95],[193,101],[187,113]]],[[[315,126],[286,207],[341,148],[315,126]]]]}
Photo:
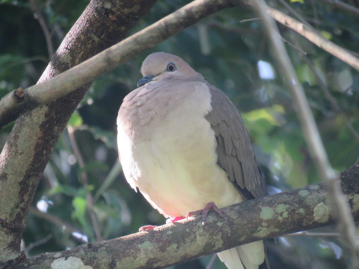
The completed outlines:
{"type": "MultiPolygon", "coordinates": [[[[158,1],[131,33],[188,2],[158,1]]],[[[88,0],[35,3],[56,48],[88,0]]],[[[327,39],[358,51],[357,17],[321,1],[287,3],[327,39]]],[[[276,1],[272,5],[291,14],[276,1]]],[[[0,1],[0,97],[19,86],[35,84],[47,65],[47,46],[38,16],[28,1],[0,1]]],[[[93,82],[69,121],[75,130],[75,142],[69,137],[70,128],[65,129],[39,184],[23,234],[27,256],[97,241],[88,193],[94,197],[93,213],[102,239],[134,233],[146,224],[164,223],[164,218],[123,178],[116,146],[118,108],[123,97],[136,88],[141,62],[151,52],[182,57],[227,93],[242,113],[271,193],[321,181],[309,156],[292,96],[276,70],[260,22],[238,22],[255,17],[251,10],[240,7],[220,11],[93,82]]],[[[298,39],[344,117],[359,130],[358,72],[283,25],[279,29],[287,41],[295,43],[293,36],[298,39]]],[[[306,90],[330,162],[337,171],[345,170],[358,158],[358,140],[326,99],[300,52],[288,44],[286,48],[306,90]]],[[[12,126],[0,133],[1,147],[12,126]]],[[[325,231],[334,229],[327,227],[325,231]]],[[[346,268],[348,257],[342,248],[337,237],[292,236],[279,238],[277,244],[268,242],[272,268],[346,268]]],[[[176,268],[205,268],[211,257],[176,268]]],[[[224,265],[216,259],[212,268],[224,265]]]]}

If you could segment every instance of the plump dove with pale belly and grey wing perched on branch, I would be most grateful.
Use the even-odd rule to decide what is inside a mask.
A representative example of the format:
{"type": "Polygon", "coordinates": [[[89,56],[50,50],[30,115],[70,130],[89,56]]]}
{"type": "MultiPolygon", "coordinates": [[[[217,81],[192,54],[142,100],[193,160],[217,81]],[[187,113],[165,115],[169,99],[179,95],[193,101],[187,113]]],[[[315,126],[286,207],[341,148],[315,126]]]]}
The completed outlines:
{"type": "MultiPolygon", "coordinates": [[[[150,54],[118,112],[118,151],[128,183],[177,221],[267,195],[241,115],[181,58],[150,54]],[[189,213],[189,214],[188,214],[189,213]]],[[[153,226],[145,226],[146,230],[153,226]]],[[[262,241],[218,253],[228,268],[258,269],[262,241]]]]}

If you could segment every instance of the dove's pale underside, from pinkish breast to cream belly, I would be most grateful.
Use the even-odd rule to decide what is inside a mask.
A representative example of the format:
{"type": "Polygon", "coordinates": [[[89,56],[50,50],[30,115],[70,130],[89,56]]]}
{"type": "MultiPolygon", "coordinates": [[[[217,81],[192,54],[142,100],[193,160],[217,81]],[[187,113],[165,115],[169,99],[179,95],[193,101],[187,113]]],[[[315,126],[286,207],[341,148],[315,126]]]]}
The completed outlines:
{"type": "Polygon", "coordinates": [[[217,164],[215,134],[204,118],[212,109],[208,86],[149,88],[125,98],[118,119],[120,159],[131,187],[171,218],[209,202],[219,208],[242,202],[217,164]]]}

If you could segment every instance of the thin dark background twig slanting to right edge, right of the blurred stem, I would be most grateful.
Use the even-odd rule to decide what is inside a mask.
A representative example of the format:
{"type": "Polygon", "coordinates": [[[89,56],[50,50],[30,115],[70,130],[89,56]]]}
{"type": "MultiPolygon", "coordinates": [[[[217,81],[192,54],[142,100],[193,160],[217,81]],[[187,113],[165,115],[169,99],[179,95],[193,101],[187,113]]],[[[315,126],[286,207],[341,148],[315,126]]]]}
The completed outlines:
{"type": "MultiPolygon", "coordinates": [[[[293,37],[295,38],[295,37],[293,37]]],[[[298,47],[300,47],[300,44],[298,42],[298,39],[295,38],[295,43],[298,47]]],[[[323,91],[325,98],[329,101],[329,103],[332,105],[332,107],[334,108],[335,112],[342,118],[342,120],[344,121],[345,125],[348,127],[349,131],[351,132],[351,134],[356,138],[356,140],[359,141],[359,133],[356,132],[356,130],[354,129],[353,125],[349,122],[349,120],[345,117],[343,110],[340,108],[340,106],[338,105],[338,103],[336,102],[335,98],[331,95],[330,91],[328,90],[327,86],[324,84],[322,78],[320,77],[320,75],[318,74],[317,70],[315,69],[315,67],[313,66],[312,62],[309,60],[309,58],[306,55],[301,55],[302,59],[304,62],[306,62],[306,64],[308,65],[308,67],[311,69],[315,80],[317,81],[317,84],[319,85],[319,88],[323,91]]]]}

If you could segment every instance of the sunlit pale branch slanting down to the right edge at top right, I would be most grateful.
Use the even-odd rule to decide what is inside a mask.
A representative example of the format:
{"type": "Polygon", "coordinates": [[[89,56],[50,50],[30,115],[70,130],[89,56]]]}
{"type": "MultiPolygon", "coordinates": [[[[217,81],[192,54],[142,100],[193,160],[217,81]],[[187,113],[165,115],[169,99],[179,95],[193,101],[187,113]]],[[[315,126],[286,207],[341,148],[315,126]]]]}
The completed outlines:
{"type": "Polygon", "coordinates": [[[285,25],[286,27],[289,27],[290,29],[293,29],[295,32],[301,34],[309,41],[316,44],[318,47],[324,49],[325,51],[339,58],[343,62],[348,63],[348,65],[352,66],[356,70],[359,70],[359,59],[351,55],[346,49],[318,35],[311,29],[308,29],[308,27],[303,23],[298,22],[297,20],[291,18],[283,12],[270,7],[267,7],[267,9],[271,16],[281,24],[285,25]]]}

